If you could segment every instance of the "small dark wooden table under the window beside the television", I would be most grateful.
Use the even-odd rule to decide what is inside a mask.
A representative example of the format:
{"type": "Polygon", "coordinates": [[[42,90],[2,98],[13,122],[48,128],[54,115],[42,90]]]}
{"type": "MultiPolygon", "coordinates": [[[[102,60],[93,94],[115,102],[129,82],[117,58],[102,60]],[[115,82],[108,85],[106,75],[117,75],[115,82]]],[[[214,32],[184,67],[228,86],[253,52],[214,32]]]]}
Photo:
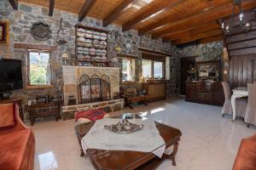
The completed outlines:
{"type": "Polygon", "coordinates": [[[39,103],[36,105],[28,105],[27,111],[29,113],[29,119],[32,126],[36,118],[44,116],[55,116],[55,121],[57,122],[60,115],[60,103],[49,102],[39,103]]]}

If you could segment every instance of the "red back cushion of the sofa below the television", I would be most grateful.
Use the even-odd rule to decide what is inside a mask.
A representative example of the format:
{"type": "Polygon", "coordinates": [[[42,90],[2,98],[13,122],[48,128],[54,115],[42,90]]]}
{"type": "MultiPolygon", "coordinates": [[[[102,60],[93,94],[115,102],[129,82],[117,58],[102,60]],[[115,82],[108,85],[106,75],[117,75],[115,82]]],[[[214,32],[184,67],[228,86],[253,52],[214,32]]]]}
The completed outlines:
{"type": "Polygon", "coordinates": [[[7,129],[15,127],[15,104],[2,104],[0,105],[0,129],[7,129]]]}

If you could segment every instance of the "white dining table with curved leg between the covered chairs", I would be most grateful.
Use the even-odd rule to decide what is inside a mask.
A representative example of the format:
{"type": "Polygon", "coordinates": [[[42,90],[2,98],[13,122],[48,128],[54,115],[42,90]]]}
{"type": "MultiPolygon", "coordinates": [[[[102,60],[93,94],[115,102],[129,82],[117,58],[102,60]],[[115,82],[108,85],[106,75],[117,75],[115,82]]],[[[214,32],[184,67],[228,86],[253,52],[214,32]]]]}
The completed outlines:
{"type": "Polygon", "coordinates": [[[233,110],[233,118],[232,121],[236,120],[236,99],[244,98],[248,96],[248,90],[246,87],[238,87],[232,89],[233,94],[231,96],[231,106],[233,110]]]}

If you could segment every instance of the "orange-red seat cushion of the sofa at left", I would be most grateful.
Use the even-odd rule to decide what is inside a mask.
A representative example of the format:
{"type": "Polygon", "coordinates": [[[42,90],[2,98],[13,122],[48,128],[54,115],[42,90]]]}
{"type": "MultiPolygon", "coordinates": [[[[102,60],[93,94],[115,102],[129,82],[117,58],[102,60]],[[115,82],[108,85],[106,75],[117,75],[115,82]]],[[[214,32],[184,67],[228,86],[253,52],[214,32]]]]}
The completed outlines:
{"type": "MultiPolygon", "coordinates": [[[[31,129],[0,135],[0,167],[4,170],[26,169],[34,144],[31,129]]],[[[33,153],[32,153],[33,154],[33,153]]]]}

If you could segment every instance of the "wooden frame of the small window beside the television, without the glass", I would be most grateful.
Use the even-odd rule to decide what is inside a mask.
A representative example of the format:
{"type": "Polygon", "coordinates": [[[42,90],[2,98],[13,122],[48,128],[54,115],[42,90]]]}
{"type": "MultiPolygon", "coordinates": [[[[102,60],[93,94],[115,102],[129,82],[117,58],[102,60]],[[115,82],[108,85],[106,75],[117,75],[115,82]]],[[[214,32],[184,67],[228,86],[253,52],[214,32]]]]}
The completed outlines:
{"type": "Polygon", "coordinates": [[[27,66],[26,66],[26,88],[27,89],[34,89],[34,88],[54,88],[53,85],[53,78],[52,78],[52,60],[51,60],[51,51],[49,50],[40,50],[40,49],[27,49],[27,66]],[[49,54],[49,70],[50,70],[50,84],[31,84],[30,82],[30,53],[45,53],[49,54]]]}

